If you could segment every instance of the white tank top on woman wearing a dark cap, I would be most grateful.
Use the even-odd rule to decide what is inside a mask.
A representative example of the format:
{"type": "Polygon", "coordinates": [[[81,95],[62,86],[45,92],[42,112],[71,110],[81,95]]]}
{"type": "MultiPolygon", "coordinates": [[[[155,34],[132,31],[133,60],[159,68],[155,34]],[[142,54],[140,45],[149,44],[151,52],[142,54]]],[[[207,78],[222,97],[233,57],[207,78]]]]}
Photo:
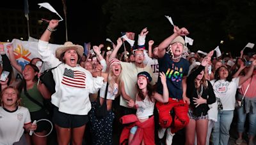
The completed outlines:
{"type": "Polygon", "coordinates": [[[144,100],[137,100],[136,96],[135,105],[137,107],[136,116],[139,119],[146,119],[154,113],[155,102],[151,102],[148,96],[144,100]]]}

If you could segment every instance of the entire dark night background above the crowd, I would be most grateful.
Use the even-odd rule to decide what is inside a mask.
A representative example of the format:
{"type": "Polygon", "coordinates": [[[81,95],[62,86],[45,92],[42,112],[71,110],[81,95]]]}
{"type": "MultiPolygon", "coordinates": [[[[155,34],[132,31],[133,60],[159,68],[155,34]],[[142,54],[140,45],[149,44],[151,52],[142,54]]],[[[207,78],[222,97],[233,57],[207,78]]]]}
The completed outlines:
{"type": "MultiPolygon", "coordinates": [[[[24,10],[23,2],[3,1],[1,8],[24,10]]],[[[48,11],[45,8],[39,9],[37,5],[44,2],[50,3],[65,18],[61,0],[28,0],[29,10],[48,11]]],[[[158,45],[173,32],[173,26],[164,15],[172,17],[175,25],[188,29],[188,37],[195,40],[193,46],[188,46],[191,52],[209,52],[220,45],[221,52],[239,55],[248,42],[256,43],[255,0],[67,0],[66,6],[68,41],[80,45],[84,42],[99,45],[106,43],[106,38],[116,42],[120,32],[128,31],[136,33],[136,40],[144,27],[148,27],[149,31],[147,41],[154,39],[158,45]],[[223,44],[220,44],[221,40],[223,44]]],[[[55,13],[51,17],[58,18],[55,13]]],[[[54,32],[54,41],[57,44],[66,41],[64,21],[60,22],[58,31],[54,32]]],[[[244,51],[255,52],[255,48],[246,48],[244,51]]]]}

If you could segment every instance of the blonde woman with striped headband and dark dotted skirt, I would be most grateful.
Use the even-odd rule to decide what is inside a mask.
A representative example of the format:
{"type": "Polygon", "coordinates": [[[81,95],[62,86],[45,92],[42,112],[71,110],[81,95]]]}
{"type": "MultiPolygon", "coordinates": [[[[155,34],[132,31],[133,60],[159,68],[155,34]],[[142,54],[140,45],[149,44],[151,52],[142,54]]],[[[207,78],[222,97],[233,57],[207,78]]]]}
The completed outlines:
{"type": "Polygon", "coordinates": [[[104,97],[107,95],[107,116],[103,118],[97,118],[97,116],[95,116],[96,102],[92,102],[92,109],[90,111],[90,130],[92,133],[93,144],[113,144],[112,132],[115,114],[112,111],[112,104],[115,98],[120,95],[120,84],[122,82],[120,75],[121,71],[122,67],[120,60],[112,59],[109,62],[108,88],[106,88],[107,83],[104,83],[102,88],[100,88],[100,104],[104,102],[104,97]]]}

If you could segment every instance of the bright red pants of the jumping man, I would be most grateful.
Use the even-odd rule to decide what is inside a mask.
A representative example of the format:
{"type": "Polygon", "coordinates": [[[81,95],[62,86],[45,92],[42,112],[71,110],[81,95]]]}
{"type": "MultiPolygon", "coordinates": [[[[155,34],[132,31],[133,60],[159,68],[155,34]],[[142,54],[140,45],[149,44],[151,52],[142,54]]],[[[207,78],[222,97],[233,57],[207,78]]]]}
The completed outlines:
{"type": "Polygon", "coordinates": [[[169,98],[167,103],[156,102],[156,107],[159,113],[160,126],[163,128],[171,127],[172,134],[188,125],[188,104],[184,103],[183,100],[169,98]],[[174,111],[173,118],[170,114],[172,110],[174,111]]]}

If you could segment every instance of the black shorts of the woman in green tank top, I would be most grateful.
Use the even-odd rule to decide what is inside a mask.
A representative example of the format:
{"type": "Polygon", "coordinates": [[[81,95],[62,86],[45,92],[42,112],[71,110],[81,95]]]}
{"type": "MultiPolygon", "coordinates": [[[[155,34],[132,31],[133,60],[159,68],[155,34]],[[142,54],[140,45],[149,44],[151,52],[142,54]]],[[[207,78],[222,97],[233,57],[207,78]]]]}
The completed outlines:
{"type": "MultiPolygon", "coordinates": [[[[33,123],[34,120],[38,121],[40,119],[47,119],[47,114],[44,109],[40,109],[39,111],[31,112],[31,122],[33,123]]],[[[37,128],[35,132],[42,132],[44,130],[48,130],[51,125],[47,121],[39,121],[36,123],[37,128]]]]}

